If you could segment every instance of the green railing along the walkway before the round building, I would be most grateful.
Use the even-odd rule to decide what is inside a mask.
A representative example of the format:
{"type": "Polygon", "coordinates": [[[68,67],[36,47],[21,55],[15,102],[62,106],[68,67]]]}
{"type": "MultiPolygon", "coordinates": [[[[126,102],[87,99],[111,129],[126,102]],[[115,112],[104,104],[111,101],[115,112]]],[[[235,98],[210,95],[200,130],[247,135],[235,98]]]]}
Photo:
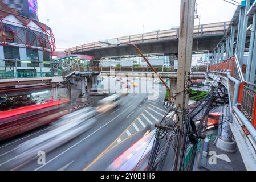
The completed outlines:
{"type": "MultiPolygon", "coordinates": [[[[60,75],[60,73],[58,73],[60,75]]],[[[21,73],[0,73],[0,79],[12,79],[12,78],[39,78],[39,77],[53,77],[52,72],[21,72],[21,73]]]]}

